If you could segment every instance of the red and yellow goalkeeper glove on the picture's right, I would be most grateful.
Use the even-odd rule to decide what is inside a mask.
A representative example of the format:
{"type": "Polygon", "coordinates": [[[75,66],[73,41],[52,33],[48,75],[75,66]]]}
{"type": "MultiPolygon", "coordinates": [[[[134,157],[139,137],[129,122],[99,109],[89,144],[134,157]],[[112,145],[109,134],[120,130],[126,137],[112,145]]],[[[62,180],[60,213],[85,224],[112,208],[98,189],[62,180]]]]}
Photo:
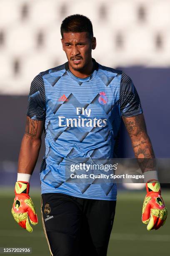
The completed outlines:
{"type": "Polygon", "coordinates": [[[161,197],[160,183],[150,180],[146,183],[147,194],[143,202],[142,222],[147,230],[158,229],[164,225],[168,215],[167,208],[161,197]]]}

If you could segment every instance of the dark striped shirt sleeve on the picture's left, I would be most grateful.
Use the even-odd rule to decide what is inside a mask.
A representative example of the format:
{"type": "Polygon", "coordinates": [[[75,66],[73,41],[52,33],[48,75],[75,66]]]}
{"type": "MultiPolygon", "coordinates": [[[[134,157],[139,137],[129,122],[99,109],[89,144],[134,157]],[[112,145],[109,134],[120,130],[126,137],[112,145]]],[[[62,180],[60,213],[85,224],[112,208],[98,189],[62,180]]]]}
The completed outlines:
{"type": "Polygon", "coordinates": [[[34,120],[45,120],[45,114],[44,81],[42,76],[38,74],[31,82],[27,115],[34,120]]]}

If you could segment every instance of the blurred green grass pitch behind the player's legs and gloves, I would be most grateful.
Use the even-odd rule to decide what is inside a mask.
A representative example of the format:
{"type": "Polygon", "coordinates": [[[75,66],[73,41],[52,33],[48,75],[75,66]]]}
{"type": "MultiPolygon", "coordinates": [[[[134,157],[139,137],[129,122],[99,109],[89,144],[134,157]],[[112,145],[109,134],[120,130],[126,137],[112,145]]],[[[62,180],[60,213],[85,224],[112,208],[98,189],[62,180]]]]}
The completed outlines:
{"type": "MultiPolygon", "coordinates": [[[[170,212],[170,191],[163,189],[163,199],[170,212]]],[[[0,189],[0,247],[32,247],[32,256],[50,255],[42,228],[40,190],[31,189],[39,223],[28,233],[18,226],[11,215],[13,188],[0,189]]],[[[118,191],[115,221],[107,256],[155,256],[169,254],[170,218],[159,230],[147,231],[141,222],[145,191],[118,191]]],[[[168,216],[169,217],[169,216],[168,216]]],[[[14,255],[14,254],[13,254],[14,255]]],[[[16,255],[16,254],[15,254],[16,255]]]]}

